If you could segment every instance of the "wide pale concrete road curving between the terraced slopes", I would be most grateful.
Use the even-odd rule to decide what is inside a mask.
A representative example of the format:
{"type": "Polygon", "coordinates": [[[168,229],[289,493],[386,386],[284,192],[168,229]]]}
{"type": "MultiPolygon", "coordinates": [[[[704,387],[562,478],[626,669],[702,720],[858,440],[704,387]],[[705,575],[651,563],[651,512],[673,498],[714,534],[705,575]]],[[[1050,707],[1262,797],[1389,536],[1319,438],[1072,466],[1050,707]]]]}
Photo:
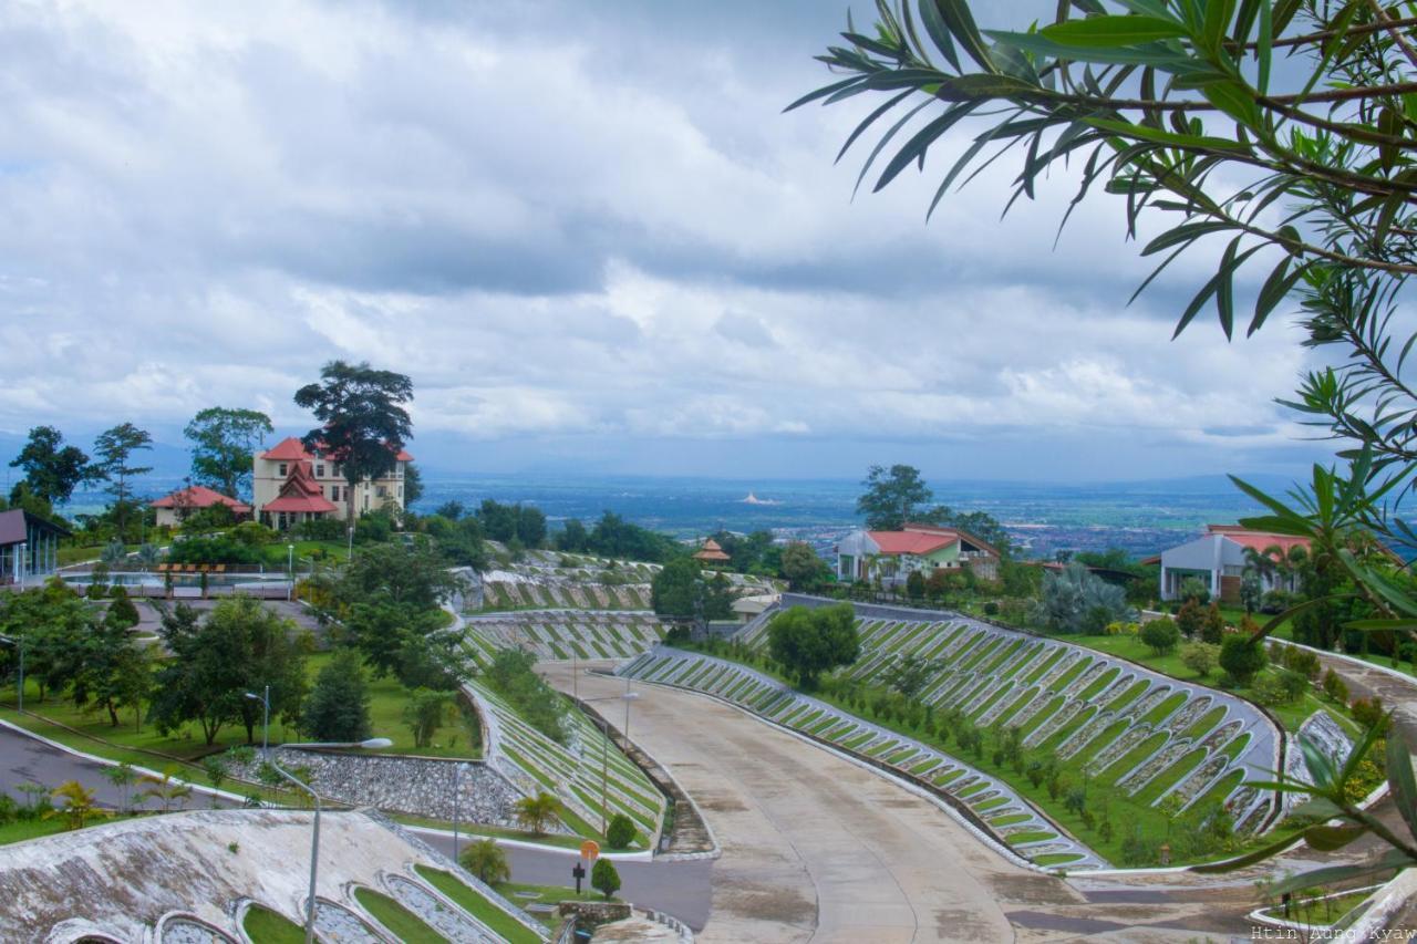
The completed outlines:
{"type": "MultiPolygon", "coordinates": [[[[570,687],[570,666],[546,666],[570,687]]],[[[582,676],[582,696],[623,682],[582,676]]],[[[696,799],[723,858],[703,941],[1006,941],[1246,934],[1253,889],[1118,897],[1013,865],[934,804],[718,702],[640,686],[632,736],[696,799]]],[[[1127,889],[1121,889],[1127,890],[1127,889]]]]}

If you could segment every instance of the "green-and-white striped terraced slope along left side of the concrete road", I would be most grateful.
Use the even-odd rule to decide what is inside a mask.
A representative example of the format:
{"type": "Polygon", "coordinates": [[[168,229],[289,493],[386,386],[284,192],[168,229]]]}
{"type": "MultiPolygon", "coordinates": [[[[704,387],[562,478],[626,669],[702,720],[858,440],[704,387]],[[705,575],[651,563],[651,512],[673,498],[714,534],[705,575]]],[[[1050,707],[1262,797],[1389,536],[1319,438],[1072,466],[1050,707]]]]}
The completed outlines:
{"type": "Polygon", "coordinates": [[[544,790],[557,797],[568,812],[568,826],[582,835],[599,833],[602,818],[609,821],[622,812],[635,822],[639,838],[653,846],[667,805],[663,794],[584,713],[567,714],[572,730],[563,746],[523,721],[478,679],[463,683],[463,692],[486,721],[487,761],[519,790],[527,795],[544,790]]]}

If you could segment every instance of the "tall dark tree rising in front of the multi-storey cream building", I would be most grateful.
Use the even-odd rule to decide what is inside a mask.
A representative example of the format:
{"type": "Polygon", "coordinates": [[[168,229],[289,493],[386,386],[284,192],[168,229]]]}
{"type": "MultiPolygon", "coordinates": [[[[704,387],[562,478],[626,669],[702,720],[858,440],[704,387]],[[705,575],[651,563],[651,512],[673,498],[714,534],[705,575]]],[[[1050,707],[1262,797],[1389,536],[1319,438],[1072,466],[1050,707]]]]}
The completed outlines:
{"type": "MultiPolygon", "coordinates": [[[[323,448],[340,463],[353,492],[366,478],[380,478],[398,465],[398,454],[414,432],[404,404],[414,398],[414,381],[368,361],[332,360],[320,383],[295,391],[295,403],[315,414],[320,427],[305,435],[307,448],[323,448]]],[[[354,502],[349,502],[354,519],[354,502]]]]}

